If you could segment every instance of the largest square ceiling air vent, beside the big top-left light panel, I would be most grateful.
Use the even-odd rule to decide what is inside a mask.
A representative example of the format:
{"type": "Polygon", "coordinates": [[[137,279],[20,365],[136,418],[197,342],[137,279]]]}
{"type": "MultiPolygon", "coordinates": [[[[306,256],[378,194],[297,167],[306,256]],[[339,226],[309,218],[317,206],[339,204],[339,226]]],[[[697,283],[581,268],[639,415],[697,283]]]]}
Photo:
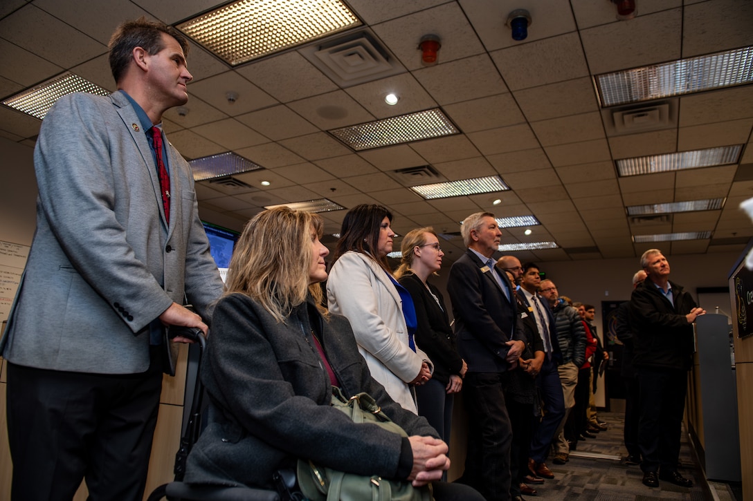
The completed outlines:
{"type": "Polygon", "coordinates": [[[303,47],[300,53],[340,87],[352,87],[405,71],[368,30],[303,47]]]}

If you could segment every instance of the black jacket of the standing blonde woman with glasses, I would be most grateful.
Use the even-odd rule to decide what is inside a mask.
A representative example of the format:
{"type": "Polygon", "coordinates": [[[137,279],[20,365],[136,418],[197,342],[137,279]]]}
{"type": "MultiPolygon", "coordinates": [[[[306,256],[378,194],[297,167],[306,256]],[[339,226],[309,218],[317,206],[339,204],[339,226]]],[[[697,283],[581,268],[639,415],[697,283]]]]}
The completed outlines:
{"type": "Polygon", "coordinates": [[[410,293],[416,308],[416,345],[428,355],[434,364],[432,378],[447,384],[450,375],[460,374],[463,359],[455,345],[455,332],[447,318],[447,306],[437,287],[428,284],[431,293],[442,303],[440,308],[420,278],[411,272],[400,278],[400,284],[410,293]]]}

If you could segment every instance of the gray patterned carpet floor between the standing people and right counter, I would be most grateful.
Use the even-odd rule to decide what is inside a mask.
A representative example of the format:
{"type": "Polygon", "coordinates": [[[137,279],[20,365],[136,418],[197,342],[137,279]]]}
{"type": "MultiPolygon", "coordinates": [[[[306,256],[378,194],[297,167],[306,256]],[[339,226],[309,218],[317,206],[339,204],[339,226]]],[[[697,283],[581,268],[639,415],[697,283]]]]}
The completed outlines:
{"type": "Polygon", "coordinates": [[[599,418],[608,423],[608,430],[599,433],[595,439],[578,442],[578,450],[573,451],[570,460],[564,465],[556,465],[551,457],[547,466],[555,477],[544,484],[531,485],[538,490],[536,496],[525,499],[579,499],[587,501],[654,501],[658,499],[730,499],[725,484],[724,493],[707,490],[703,482],[703,472],[695,463],[693,453],[683,435],[680,451],[681,469],[684,477],[691,478],[694,486],[678,487],[666,481],[659,481],[659,487],[651,488],[642,484],[643,473],[639,466],[626,466],[622,457],[627,451],[623,446],[623,414],[599,413],[599,418]]]}

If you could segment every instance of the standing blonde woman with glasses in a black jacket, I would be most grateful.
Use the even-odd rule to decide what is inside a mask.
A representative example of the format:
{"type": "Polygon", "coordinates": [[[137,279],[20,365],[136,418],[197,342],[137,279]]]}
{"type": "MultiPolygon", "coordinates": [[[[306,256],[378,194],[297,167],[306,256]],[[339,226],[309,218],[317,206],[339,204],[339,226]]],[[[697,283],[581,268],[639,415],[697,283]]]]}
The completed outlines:
{"type": "Polygon", "coordinates": [[[442,247],[431,227],[413,229],[403,238],[402,260],[395,272],[407,289],[416,308],[416,345],[434,364],[434,375],[425,385],[416,387],[419,415],[426,417],[439,436],[450,443],[453,394],[462,387],[468,366],[455,346],[447,307],[437,287],[428,282],[442,266],[442,247]]]}

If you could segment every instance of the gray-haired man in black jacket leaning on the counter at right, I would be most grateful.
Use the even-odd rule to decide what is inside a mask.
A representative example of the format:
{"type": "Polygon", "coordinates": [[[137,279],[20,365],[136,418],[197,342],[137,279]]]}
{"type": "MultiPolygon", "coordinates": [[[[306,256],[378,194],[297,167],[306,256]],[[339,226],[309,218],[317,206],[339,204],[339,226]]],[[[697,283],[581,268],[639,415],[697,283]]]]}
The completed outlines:
{"type": "Polygon", "coordinates": [[[646,250],[641,266],[647,277],[630,297],[630,325],[641,387],[638,445],[643,483],[658,487],[661,479],[692,487],[693,481],[680,475],[677,466],[687,371],[693,364],[693,323],[706,310],[669,281],[669,262],[661,250],[646,250]]]}

